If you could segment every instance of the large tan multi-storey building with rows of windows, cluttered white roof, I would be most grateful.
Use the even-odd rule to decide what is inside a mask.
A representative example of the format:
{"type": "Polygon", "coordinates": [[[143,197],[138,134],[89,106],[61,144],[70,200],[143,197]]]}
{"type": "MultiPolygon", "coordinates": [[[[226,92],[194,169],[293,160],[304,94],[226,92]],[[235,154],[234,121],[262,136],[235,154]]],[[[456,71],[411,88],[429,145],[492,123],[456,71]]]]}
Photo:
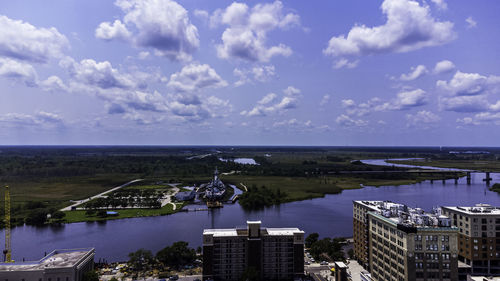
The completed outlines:
{"type": "Polygon", "coordinates": [[[425,213],[388,201],[355,201],[353,208],[355,255],[368,259],[373,280],[458,280],[458,229],[441,209],[425,213]]]}

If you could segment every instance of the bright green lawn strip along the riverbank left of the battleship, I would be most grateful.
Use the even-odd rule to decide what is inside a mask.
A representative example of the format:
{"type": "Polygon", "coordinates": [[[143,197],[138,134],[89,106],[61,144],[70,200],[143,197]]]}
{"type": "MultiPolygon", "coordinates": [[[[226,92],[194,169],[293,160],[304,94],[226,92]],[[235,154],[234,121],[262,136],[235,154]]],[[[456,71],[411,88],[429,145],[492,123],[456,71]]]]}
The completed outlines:
{"type": "Polygon", "coordinates": [[[177,203],[176,210],[173,210],[172,204],[167,204],[160,209],[117,209],[108,210],[118,212],[118,216],[108,216],[108,217],[98,217],[96,215],[87,216],[85,211],[69,211],[66,212],[66,217],[64,218],[65,223],[73,222],[84,222],[84,221],[104,221],[104,220],[116,220],[125,218],[136,218],[136,217],[151,217],[151,216],[164,216],[179,212],[184,206],[183,203],[177,203]]]}

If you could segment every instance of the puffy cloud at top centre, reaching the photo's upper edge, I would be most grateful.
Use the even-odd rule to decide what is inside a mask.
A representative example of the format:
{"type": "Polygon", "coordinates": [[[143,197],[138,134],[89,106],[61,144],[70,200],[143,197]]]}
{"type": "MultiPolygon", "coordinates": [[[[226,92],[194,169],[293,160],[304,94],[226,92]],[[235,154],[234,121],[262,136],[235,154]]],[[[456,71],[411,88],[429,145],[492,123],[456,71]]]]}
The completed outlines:
{"type": "Polygon", "coordinates": [[[238,58],[267,62],[274,56],[288,57],[292,49],[284,44],[266,46],[268,32],[300,25],[300,17],[283,11],[283,3],[257,4],[250,9],[245,3],[233,2],[211,16],[211,26],[227,25],[217,54],[223,59],[238,58]]]}

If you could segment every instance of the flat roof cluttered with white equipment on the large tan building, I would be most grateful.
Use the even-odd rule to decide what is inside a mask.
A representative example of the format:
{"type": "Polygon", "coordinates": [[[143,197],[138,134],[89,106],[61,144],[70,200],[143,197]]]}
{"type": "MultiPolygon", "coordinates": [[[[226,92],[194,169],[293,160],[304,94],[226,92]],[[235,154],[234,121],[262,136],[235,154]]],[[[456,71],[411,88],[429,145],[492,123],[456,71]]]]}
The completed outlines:
{"type": "Polygon", "coordinates": [[[441,214],[441,208],[424,212],[421,208],[411,208],[391,201],[356,201],[368,207],[372,213],[384,219],[408,227],[451,228],[451,220],[441,214]]]}

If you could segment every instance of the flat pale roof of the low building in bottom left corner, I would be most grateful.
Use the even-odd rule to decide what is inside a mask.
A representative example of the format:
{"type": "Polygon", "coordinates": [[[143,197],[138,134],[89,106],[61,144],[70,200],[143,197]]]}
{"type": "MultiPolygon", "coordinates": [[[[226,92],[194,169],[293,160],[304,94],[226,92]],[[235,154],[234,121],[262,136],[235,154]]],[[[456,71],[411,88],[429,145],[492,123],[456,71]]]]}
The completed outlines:
{"type": "Polygon", "coordinates": [[[73,267],[94,251],[93,248],[54,250],[39,261],[0,263],[0,271],[37,271],[45,268],[73,267]]]}

